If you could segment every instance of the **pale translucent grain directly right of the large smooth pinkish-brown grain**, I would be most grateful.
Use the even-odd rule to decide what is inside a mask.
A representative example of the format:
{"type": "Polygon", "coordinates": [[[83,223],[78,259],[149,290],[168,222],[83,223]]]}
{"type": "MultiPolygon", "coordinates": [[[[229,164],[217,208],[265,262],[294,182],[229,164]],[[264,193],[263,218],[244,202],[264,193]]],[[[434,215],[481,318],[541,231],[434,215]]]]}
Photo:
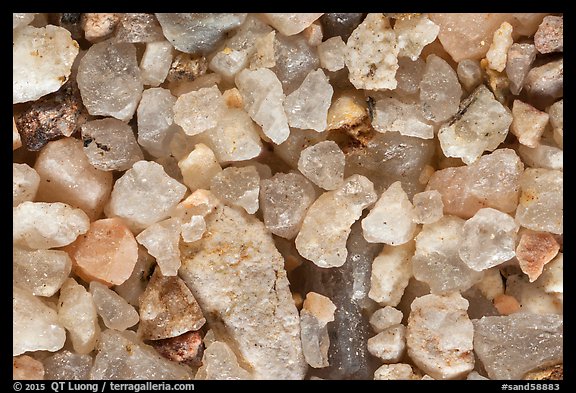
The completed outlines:
{"type": "Polygon", "coordinates": [[[137,232],[167,218],[185,192],[186,186],[169,177],[160,164],[138,161],[114,183],[105,212],[137,232]]]}

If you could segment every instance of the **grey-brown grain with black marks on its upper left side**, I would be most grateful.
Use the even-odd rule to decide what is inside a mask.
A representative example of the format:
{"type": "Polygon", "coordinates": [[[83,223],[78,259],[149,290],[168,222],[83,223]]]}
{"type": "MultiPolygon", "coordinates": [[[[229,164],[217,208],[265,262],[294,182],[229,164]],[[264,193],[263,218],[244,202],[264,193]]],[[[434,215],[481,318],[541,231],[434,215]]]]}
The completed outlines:
{"type": "Polygon", "coordinates": [[[132,127],[118,119],[86,122],[82,141],[90,164],[103,171],[125,171],[144,158],[132,127]]]}

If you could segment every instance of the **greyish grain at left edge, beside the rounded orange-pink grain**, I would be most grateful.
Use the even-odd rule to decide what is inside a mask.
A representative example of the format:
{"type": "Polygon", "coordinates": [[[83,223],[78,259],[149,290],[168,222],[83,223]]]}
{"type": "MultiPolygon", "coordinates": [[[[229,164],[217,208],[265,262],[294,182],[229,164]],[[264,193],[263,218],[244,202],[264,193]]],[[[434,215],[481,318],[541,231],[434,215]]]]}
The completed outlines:
{"type": "Polygon", "coordinates": [[[14,285],[27,289],[35,296],[54,295],[72,270],[72,261],[64,251],[23,248],[12,250],[14,285]]]}

